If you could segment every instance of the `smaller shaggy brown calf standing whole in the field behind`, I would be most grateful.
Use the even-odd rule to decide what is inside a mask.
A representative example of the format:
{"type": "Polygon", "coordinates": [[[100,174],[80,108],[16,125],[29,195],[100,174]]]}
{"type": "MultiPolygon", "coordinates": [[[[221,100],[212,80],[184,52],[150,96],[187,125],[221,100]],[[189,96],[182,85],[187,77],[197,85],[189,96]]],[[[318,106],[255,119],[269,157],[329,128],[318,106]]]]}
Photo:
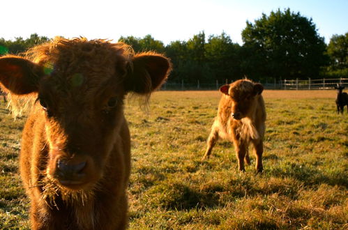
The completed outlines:
{"type": "Polygon", "coordinates": [[[251,142],[255,148],[256,169],[258,172],[263,170],[262,153],[266,121],[264,99],[261,95],[263,90],[261,84],[255,84],[248,79],[220,87],[223,95],[203,160],[209,158],[211,149],[219,137],[228,139],[234,143],[239,170],[245,171],[244,161],[250,164],[248,146],[251,142]]]}

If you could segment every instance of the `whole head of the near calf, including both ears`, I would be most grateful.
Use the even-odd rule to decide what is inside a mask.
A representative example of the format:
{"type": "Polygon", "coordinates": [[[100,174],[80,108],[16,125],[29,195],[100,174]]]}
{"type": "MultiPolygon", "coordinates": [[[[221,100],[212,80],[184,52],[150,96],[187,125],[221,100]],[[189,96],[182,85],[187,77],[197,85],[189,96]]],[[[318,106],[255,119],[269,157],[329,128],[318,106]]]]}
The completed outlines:
{"type": "Polygon", "coordinates": [[[112,149],[122,145],[126,93],[157,89],[170,63],[154,53],[126,55],[110,43],[68,45],[58,45],[54,57],[38,63],[1,58],[0,85],[16,95],[37,95],[47,140],[45,176],[67,190],[89,190],[103,177],[112,149]]]}

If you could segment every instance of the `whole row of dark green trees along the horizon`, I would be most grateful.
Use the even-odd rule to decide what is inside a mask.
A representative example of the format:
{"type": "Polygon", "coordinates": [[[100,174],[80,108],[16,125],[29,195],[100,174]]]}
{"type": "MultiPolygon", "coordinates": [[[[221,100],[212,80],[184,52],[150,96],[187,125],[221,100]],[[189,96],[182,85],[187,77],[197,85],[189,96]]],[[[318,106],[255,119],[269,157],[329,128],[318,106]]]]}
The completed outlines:
{"type": "MultiPolygon", "coordinates": [[[[242,77],[259,82],[348,77],[348,33],[334,35],[326,45],[312,19],[289,8],[262,14],[253,23],[247,21],[241,35],[243,45],[233,43],[225,32],[206,36],[204,31],[169,45],[151,35],[121,36],[119,42],[131,45],[135,52],[156,51],[168,56],[173,63],[172,83],[225,82],[242,77]]],[[[49,40],[36,33],[26,40],[0,38],[0,55],[25,52],[49,40]]]]}

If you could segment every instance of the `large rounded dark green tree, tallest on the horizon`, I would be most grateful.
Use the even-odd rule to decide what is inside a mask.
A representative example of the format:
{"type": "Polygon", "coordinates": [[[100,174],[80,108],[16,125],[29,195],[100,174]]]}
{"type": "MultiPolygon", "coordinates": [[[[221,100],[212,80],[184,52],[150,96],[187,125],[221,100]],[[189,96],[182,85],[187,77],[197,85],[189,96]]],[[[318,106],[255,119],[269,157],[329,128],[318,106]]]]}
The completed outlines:
{"type": "Polygon", "coordinates": [[[312,19],[288,8],[269,16],[262,14],[242,31],[242,64],[246,74],[294,79],[317,77],[326,65],[324,38],[317,33],[312,19]]]}

